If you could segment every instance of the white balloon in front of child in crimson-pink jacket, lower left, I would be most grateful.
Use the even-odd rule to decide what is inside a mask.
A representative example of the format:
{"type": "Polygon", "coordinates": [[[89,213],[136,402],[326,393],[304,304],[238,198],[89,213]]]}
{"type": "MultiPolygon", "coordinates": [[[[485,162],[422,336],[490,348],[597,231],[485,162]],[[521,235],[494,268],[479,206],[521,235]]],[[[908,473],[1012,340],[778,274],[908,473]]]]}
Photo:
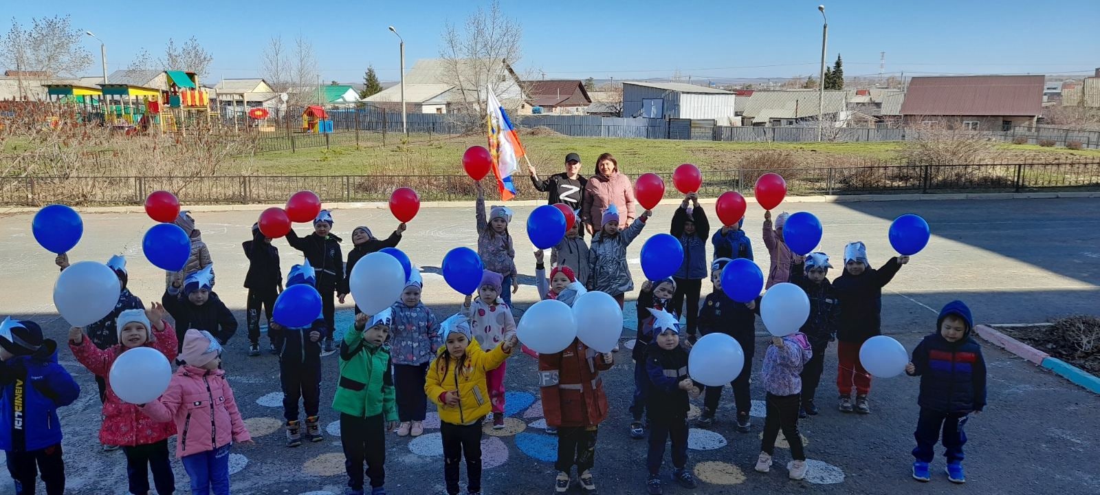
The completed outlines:
{"type": "Polygon", "coordinates": [[[124,403],[148,404],[168,389],[172,365],[153,348],[134,348],[122,353],[108,375],[114,395],[124,403]]]}

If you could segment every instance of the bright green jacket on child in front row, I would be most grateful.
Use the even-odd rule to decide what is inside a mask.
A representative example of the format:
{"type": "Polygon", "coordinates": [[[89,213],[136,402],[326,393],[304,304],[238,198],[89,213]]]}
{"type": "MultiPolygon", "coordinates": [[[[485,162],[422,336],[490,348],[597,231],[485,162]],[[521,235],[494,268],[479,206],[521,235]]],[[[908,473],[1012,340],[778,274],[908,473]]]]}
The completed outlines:
{"type": "Polygon", "coordinates": [[[332,408],[360,418],[385,414],[386,421],[397,420],[389,350],[364,342],[354,324],[340,343],[340,382],[332,408]]]}

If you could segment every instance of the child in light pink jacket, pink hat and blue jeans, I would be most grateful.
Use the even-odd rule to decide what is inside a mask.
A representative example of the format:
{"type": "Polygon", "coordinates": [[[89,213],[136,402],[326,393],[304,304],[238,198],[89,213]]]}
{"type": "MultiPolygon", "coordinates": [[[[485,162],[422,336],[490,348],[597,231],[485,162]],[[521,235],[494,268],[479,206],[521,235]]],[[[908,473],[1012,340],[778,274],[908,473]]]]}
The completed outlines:
{"type": "Polygon", "coordinates": [[[253,444],[252,436],[237,409],[233,389],[220,370],[221,344],[206,330],[187,330],[168,389],[160,398],[140,405],[148,417],[176,421],[176,457],[191,479],[191,494],[229,495],[229,450],[237,443],[253,444]]]}

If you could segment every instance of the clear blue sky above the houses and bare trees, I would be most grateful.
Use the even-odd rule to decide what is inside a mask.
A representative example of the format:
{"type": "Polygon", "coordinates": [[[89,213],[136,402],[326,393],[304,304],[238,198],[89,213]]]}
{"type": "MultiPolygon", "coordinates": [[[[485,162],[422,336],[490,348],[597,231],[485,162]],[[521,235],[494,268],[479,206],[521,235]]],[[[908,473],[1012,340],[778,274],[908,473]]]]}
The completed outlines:
{"type": "MultiPolygon", "coordinates": [[[[462,23],[487,1],[200,2],[201,8],[152,4],[89,8],[87,2],[8,0],[10,18],[70,14],[74,26],[107,43],[108,68],[125,68],[141,48],[161,56],[169,37],[195,35],[213,56],[208,78],[260,73],[267,38],[310,38],[326,81],[358,81],[373,64],[383,80],[398,77],[397,40],[406,41],[407,66],[439,54],[447,22],[462,23]],[[187,12],[217,12],[202,15],[187,12]],[[169,13],[170,12],[170,13],[169,13]],[[148,14],[166,15],[153,21],[148,14]],[[172,21],[173,18],[180,19],[172,21]],[[283,21],[285,20],[285,21],[283,21]]],[[[128,2],[129,3],[129,2],[128,2]]],[[[682,76],[791,77],[817,73],[821,56],[818,1],[575,1],[502,0],[524,29],[521,70],[547,78],[616,80],[682,76]]],[[[826,1],[828,59],[844,56],[845,74],[1077,74],[1100,66],[1100,1],[826,1]]],[[[88,75],[99,69],[98,43],[88,75]]]]}

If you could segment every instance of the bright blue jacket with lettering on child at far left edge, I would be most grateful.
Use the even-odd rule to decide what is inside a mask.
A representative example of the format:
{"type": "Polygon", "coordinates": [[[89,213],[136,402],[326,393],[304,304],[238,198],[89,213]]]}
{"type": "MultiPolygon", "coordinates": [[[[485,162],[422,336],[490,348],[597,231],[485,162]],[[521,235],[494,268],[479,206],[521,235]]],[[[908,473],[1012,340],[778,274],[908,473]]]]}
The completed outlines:
{"type": "Polygon", "coordinates": [[[34,355],[0,362],[0,450],[30,452],[61,443],[57,408],[73,404],[80,386],[57,364],[56,342],[46,339],[34,355]]]}

